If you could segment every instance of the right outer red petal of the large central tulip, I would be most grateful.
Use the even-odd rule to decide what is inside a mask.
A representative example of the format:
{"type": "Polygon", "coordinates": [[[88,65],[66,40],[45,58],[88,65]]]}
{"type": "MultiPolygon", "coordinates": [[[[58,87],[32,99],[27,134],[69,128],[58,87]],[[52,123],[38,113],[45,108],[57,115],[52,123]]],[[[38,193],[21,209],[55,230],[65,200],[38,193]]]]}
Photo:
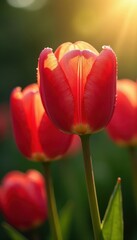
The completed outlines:
{"type": "Polygon", "coordinates": [[[110,121],[116,98],[116,57],[104,47],[93,64],[85,85],[83,114],[93,131],[110,121]]]}

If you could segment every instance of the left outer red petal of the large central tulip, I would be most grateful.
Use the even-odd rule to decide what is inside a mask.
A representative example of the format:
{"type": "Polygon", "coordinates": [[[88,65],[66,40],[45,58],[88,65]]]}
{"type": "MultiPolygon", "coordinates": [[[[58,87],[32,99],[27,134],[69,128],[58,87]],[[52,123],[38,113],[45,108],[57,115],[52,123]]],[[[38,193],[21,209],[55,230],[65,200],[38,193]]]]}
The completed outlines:
{"type": "Polygon", "coordinates": [[[44,49],[39,58],[40,93],[45,110],[54,124],[70,131],[74,102],[67,79],[51,49],[44,49]]]}

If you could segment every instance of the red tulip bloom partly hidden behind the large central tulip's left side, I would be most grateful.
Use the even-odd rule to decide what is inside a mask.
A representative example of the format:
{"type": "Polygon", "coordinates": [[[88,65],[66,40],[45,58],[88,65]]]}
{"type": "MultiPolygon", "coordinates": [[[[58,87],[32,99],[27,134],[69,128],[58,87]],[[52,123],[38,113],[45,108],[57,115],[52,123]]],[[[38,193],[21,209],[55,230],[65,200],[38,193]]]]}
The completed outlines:
{"type": "Polygon", "coordinates": [[[36,161],[58,159],[66,153],[72,135],[60,132],[43,108],[37,84],[11,94],[11,115],[16,144],[27,158],[36,161]]]}

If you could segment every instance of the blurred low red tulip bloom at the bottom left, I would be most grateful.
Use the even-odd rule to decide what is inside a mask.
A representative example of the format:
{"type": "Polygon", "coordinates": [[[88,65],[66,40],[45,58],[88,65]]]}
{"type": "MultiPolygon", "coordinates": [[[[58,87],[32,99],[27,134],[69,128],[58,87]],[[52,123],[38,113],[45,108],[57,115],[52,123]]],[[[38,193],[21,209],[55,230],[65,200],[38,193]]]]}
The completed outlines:
{"type": "Polygon", "coordinates": [[[0,188],[1,210],[9,224],[19,230],[39,226],[47,219],[47,197],[42,174],[12,171],[0,188]]]}

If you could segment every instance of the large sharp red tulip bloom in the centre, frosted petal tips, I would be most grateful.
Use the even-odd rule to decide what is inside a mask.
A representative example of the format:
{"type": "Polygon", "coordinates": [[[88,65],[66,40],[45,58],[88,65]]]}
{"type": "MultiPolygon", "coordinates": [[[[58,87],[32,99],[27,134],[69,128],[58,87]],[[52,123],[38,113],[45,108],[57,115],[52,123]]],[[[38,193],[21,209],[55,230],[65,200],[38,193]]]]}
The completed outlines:
{"type": "Polygon", "coordinates": [[[104,46],[99,54],[85,42],[45,48],[38,82],[43,105],[61,130],[89,134],[110,121],[116,98],[116,56],[104,46]]]}

